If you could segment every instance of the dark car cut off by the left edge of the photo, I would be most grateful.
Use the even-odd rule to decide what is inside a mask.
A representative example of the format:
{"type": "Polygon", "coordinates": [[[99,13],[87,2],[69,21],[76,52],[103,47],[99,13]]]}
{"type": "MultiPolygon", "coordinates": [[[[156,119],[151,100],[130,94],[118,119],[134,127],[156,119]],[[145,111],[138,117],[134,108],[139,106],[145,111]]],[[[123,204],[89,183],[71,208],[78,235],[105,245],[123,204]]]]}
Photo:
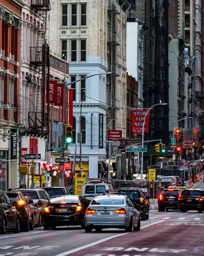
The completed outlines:
{"type": "Polygon", "coordinates": [[[6,193],[0,191],[0,234],[7,230],[20,232],[20,215],[6,193]]]}

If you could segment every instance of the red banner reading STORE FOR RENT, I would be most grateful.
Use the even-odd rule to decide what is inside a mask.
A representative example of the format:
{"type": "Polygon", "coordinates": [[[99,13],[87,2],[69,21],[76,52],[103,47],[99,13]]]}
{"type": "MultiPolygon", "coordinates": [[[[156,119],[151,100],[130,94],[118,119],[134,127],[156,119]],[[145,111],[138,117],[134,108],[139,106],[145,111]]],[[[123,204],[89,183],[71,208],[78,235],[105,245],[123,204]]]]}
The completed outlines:
{"type": "Polygon", "coordinates": [[[135,134],[142,134],[143,123],[144,133],[149,132],[149,116],[150,111],[146,110],[133,110],[132,111],[132,132],[135,134]]]}

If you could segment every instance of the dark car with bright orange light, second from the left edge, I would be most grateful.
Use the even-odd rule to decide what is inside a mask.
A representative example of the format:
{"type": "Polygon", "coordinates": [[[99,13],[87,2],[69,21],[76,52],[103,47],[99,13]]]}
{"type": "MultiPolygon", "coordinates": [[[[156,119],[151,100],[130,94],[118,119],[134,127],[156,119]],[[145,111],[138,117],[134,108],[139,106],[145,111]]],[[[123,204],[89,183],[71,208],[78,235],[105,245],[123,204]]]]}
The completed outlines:
{"type": "Polygon", "coordinates": [[[23,231],[28,232],[33,230],[34,227],[34,212],[29,204],[33,203],[32,200],[26,200],[24,195],[20,191],[7,191],[11,202],[20,214],[20,228],[23,231]]]}

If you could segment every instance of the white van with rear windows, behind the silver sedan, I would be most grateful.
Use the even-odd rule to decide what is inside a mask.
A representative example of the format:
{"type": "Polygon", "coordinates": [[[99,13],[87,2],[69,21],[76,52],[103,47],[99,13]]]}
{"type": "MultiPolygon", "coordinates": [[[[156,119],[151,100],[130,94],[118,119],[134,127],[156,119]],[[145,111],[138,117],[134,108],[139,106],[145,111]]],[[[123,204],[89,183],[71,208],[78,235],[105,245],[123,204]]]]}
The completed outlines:
{"type": "Polygon", "coordinates": [[[103,195],[103,192],[106,192],[107,190],[109,190],[109,192],[114,192],[111,184],[92,181],[83,185],[81,196],[92,200],[95,196],[103,195]]]}

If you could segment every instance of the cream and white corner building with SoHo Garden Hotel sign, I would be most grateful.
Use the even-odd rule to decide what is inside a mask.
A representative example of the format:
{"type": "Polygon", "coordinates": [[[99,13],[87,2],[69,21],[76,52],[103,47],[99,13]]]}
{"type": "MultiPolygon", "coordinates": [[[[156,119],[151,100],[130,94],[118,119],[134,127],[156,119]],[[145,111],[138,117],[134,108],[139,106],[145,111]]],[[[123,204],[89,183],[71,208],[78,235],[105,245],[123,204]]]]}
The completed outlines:
{"type": "MultiPolygon", "coordinates": [[[[106,27],[107,3],[104,0],[101,3],[92,0],[51,2],[47,43],[56,55],[66,57],[70,81],[107,71],[106,27]]],[[[82,104],[82,168],[89,177],[98,177],[99,164],[106,160],[106,76],[94,76],[72,84],[71,88],[74,89],[74,133],[73,144],[69,145],[70,158],[73,159],[75,152],[82,104]],[[84,93],[87,95],[83,99],[84,93]],[[100,115],[103,115],[103,143],[99,147],[100,115]]],[[[79,170],[78,158],[75,169],[79,170]]]]}

